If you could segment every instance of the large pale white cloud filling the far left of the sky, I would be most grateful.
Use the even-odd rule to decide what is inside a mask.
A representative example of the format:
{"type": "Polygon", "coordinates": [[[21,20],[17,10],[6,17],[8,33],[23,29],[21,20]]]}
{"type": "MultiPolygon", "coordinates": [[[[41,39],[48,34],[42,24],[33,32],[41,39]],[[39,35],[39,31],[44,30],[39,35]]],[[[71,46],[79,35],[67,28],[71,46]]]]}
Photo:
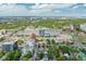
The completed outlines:
{"type": "Polygon", "coordinates": [[[0,4],[0,15],[25,15],[28,10],[17,4],[0,4]]]}

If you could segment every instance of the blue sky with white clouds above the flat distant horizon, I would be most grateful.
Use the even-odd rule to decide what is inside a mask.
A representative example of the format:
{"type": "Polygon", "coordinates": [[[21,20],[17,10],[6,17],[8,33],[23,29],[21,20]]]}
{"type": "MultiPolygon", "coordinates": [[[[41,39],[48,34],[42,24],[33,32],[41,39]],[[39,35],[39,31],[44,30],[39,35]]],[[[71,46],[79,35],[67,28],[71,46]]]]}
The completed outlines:
{"type": "Polygon", "coordinates": [[[85,3],[0,3],[0,16],[86,17],[85,3]]]}

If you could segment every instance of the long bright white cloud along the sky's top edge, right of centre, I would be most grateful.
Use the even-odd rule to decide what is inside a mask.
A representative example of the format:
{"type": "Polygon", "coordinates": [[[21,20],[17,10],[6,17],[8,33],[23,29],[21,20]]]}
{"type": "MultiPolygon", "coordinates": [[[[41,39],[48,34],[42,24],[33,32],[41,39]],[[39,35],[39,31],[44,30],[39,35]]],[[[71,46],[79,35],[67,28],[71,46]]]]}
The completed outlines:
{"type": "Polygon", "coordinates": [[[63,9],[73,5],[72,3],[39,3],[32,7],[32,9],[63,9]]]}

